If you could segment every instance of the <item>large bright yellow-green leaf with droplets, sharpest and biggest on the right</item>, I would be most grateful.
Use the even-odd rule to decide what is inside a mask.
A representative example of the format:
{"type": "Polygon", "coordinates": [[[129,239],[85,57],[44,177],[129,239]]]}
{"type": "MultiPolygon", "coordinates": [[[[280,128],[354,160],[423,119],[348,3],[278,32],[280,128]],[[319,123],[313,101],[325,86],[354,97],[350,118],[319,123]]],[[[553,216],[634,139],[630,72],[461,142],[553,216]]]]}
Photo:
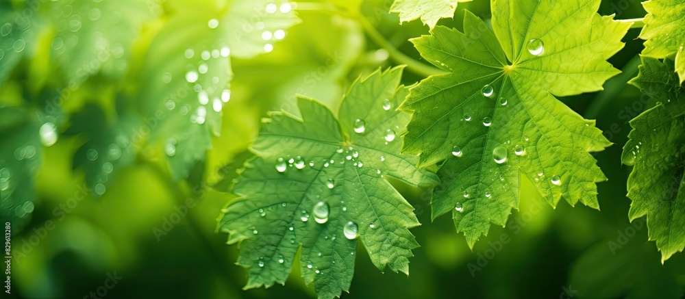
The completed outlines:
{"type": "Polygon", "coordinates": [[[521,175],[553,207],[563,196],[599,208],[596,183],[606,177],[588,152],[611,143],[554,97],[601,90],[619,73],[606,59],[630,24],[597,8],[599,0],[497,0],[494,34],[466,11],[465,34],[438,26],[412,39],[425,60],[452,72],[410,90],[400,107],[413,114],[403,152],[421,154],[421,166],[444,161],[433,217],[452,211],[469,246],[490,223],[506,224],[521,175]]]}

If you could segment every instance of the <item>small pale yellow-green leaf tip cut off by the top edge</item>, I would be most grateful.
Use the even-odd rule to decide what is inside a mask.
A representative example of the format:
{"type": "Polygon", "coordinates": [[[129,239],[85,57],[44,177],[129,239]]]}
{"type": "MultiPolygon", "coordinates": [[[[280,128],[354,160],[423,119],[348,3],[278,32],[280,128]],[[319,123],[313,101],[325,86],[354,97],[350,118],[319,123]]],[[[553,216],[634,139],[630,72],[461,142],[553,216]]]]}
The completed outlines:
{"type": "Polygon", "coordinates": [[[390,12],[399,12],[399,21],[408,22],[421,18],[423,24],[433,29],[440,18],[451,18],[460,2],[471,0],[395,0],[390,12]]]}

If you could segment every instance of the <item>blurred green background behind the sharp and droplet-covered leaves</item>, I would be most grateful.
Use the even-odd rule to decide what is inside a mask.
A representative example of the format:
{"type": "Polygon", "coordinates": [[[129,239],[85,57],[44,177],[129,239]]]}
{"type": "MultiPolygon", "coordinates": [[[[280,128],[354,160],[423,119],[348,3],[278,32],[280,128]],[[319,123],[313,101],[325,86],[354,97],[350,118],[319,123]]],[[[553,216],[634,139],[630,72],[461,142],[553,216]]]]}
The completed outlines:
{"type": "MultiPolygon", "coordinates": [[[[174,166],[164,157],[163,138],[147,138],[133,147],[130,161],[116,166],[116,175],[105,178],[106,192],[99,196],[97,190],[86,190],[84,181],[92,175],[79,164],[86,142],[110,134],[106,125],[94,124],[105,119],[110,127],[126,127],[144,120],[146,105],[162,103],[149,96],[161,85],[149,74],[173,64],[166,60],[165,48],[206,42],[197,31],[182,28],[198,21],[204,27],[211,15],[262,3],[127,0],[121,2],[125,5],[112,4],[118,10],[99,10],[96,19],[108,18],[110,25],[86,21],[94,16],[86,16],[92,10],[83,10],[84,5],[112,1],[0,0],[0,26],[10,24],[16,32],[18,23],[29,22],[18,51],[18,38],[4,31],[7,27],[0,28],[0,107],[18,107],[29,111],[27,115],[39,115],[40,121],[51,120],[60,135],[54,145],[38,148],[42,161],[36,167],[34,205],[13,229],[11,297],[84,298],[113,275],[121,280],[106,289],[112,298],[315,297],[312,287],[303,285],[299,265],[285,286],[242,290],[247,274],[234,265],[238,250],[225,245],[226,235],[216,233],[216,218],[232,197],[210,186],[221,181],[222,166],[239,159],[254,140],[266,112],[295,112],[295,94],[335,107],[359,75],[406,62],[388,55],[371,36],[382,36],[394,49],[425,64],[408,39],[427,34],[427,26],[421,21],[400,25],[397,14],[388,13],[392,0],[292,3],[299,22],[283,26],[285,38],[275,41],[269,53],[259,45],[259,51],[240,54],[240,47],[245,52],[255,47],[249,38],[243,39],[244,46],[232,44],[236,54],[226,67],[232,70],[232,93],[219,114],[221,135],[212,135],[211,148],[200,151],[206,157],[199,159],[189,178],[176,180],[174,166]],[[211,9],[216,7],[225,10],[211,9]],[[79,12],[83,21],[76,24],[79,12]],[[79,29],[71,30],[75,25],[79,29]],[[70,45],[69,34],[84,34],[84,39],[93,35],[90,31],[121,49],[114,47],[114,58],[79,75],[79,64],[96,49],[70,45]],[[157,43],[160,39],[168,42],[157,43]],[[45,99],[70,84],[77,87],[58,112],[49,112],[45,99]]],[[[461,28],[463,9],[490,18],[489,2],[474,0],[460,3],[455,17],[438,25],[461,28]]],[[[623,19],[645,15],[634,0],[602,1],[599,13],[623,19]]],[[[595,155],[609,178],[599,184],[601,211],[564,203],[553,210],[529,183],[522,187],[521,207],[506,228],[491,227],[471,251],[449,217],[431,223],[429,200],[421,192],[398,186],[423,224],[412,229],[421,248],[410,260],[411,274],[382,274],[364,248],[358,248],[350,294],[343,297],[683,298],[684,255],[676,254],[662,265],[655,244],[647,242],[644,219],[630,224],[627,218],[630,168],[621,166],[619,157],[630,131],[627,121],[646,103],[636,88],[626,85],[637,73],[643,48],[638,34],[639,29],[631,29],[625,48],[610,60],[624,73],[608,81],[605,91],[562,99],[586,118],[597,118],[597,127],[615,144],[595,155]]],[[[410,68],[403,83],[421,79],[423,75],[410,68]]],[[[31,190],[14,192],[31,196],[31,190]]]]}

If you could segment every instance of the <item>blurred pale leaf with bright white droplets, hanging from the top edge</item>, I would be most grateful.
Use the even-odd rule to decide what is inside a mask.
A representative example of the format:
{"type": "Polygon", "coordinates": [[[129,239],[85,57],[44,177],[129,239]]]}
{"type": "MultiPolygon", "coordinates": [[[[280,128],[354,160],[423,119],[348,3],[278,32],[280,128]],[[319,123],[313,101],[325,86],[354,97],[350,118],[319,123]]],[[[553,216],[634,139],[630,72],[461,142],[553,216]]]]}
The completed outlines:
{"type": "Polygon", "coordinates": [[[299,22],[287,1],[171,1],[169,23],[150,45],[142,70],[153,138],[162,138],[175,179],[187,177],[221,133],[229,101],[230,57],[248,58],[274,49],[299,22]],[[182,13],[176,13],[182,12],[182,13]]]}

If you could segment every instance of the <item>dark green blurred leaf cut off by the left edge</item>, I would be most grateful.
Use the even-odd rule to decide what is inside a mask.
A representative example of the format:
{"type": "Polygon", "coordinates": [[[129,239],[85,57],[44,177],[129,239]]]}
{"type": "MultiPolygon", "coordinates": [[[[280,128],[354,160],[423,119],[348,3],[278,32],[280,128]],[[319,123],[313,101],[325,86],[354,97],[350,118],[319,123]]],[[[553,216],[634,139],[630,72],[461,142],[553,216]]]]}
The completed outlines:
{"type": "Polygon", "coordinates": [[[34,179],[42,161],[38,128],[27,110],[0,108],[0,219],[16,232],[34,211],[34,179]]]}

